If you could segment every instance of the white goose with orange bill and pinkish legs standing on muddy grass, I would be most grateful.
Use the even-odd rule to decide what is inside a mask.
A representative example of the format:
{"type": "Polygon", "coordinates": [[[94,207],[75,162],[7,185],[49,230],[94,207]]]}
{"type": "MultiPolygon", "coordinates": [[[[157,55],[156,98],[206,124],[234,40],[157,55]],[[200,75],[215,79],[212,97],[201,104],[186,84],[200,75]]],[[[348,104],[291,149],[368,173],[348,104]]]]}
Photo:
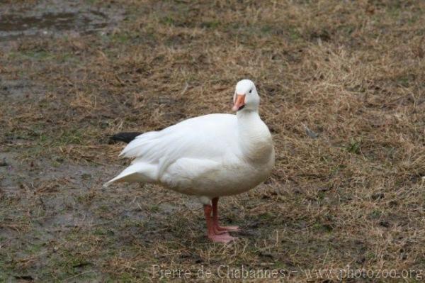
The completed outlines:
{"type": "Polygon", "coordinates": [[[133,158],[107,182],[161,184],[198,196],[203,204],[208,238],[227,243],[237,226],[218,224],[220,196],[241,194],[263,182],[275,162],[273,141],[259,116],[259,94],[249,79],[238,82],[232,114],[189,118],[162,131],[137,135],[120,153],[133,158]]]}

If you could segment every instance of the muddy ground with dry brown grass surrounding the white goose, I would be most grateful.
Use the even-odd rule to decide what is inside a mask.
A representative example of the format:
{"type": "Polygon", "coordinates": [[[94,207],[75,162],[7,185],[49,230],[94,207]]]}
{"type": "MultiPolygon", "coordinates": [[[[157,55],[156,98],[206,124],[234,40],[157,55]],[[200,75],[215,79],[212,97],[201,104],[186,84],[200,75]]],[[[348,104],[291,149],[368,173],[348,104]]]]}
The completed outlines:
{"type": "Polygon", "coordinates": [[[273,270],[274,281],[316,282],[349,269],[423,280],[424,9],[3,1],[0,281],[203,282],[211,270],[209,281],[239,282],[242,268],[255,282],[273,270]],[[245,77],[258,86],[276,167],[222,199],[223,222],[242,227],[236,243],[208,242],[191,197],[101,187],[128,164],[108,135],[229,113],[245,77]]]}

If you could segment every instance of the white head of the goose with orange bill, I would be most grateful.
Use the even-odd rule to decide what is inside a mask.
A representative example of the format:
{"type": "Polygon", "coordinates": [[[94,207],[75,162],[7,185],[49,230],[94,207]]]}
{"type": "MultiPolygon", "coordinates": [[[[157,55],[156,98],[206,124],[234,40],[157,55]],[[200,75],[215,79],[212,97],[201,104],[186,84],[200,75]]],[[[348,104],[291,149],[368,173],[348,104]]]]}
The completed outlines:
{"type": "Polygon", "coordinates": [[[258,111],[260,96],[256,91],[255,84],[249,79],[242,79],[236,84],[233,95],[232,111],[241,111],[244,109],[258,111]]]}

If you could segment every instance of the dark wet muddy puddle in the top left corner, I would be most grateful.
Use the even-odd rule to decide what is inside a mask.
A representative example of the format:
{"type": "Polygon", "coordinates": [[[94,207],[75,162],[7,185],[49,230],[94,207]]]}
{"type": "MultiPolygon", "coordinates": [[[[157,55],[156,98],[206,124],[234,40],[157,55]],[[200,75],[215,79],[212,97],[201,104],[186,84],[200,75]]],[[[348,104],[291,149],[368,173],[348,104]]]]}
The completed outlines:
{"type": "Polygon", "coordinates": [[[123,20],[121,9],[84,1],[18,1],[1,5],[0,13],[0,41],[106,32],[123,20]]]}

